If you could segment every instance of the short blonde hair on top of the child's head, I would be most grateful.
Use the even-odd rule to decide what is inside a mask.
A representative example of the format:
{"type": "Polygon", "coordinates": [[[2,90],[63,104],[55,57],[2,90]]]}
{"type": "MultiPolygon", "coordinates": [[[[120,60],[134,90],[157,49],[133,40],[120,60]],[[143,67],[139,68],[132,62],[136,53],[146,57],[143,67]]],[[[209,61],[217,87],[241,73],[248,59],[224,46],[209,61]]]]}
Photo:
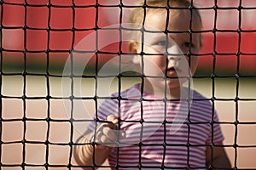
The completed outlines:
{"type": "MultiPolygon", "coordinates": [[[[197,17],[201,25],[200,27],[202,27],[201,14],[194,5],[192,6],[190,1],[191,0],[140,0],[137,3],[138,8],[132,10],[128,22],[136,24],[137,26],[143,26],[146,15],[151,13],[173,10],[178,13],[187,12],[189,14],[190,10],[192,10],[192,20],[194,17],[197,17]]],[[[138,37],[138,35],[131,36],[138,37]]]]}

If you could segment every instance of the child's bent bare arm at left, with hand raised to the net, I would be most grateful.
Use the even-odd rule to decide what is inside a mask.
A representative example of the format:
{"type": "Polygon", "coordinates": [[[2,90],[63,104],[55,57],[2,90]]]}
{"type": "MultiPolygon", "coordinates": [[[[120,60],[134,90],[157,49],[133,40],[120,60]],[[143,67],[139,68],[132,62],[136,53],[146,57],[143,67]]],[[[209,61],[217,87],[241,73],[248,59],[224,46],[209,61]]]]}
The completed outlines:
{"type": "MultiPolygon", "coordinates": [[[[112,129],[116,129],[118,119],[111,115],[107,117],[108,123],[102,123],[96,130],[96,141],[98,143],[112,143],[116,140],[116,134],[112,129]]],[[[80,137],[78,143],[74,148],[74,158],[81,166],[102,165],[102,163],[108,158],[111,148],[107,145],[93,145],[90,144],[93,141],[94,132],[87,130],[85,136],[80,137]],[[95,154],[95,156],[93,155],[95,154]],[[94,159],[94,158],[95,159],[94,159]]],[[[86,167],[84,169],[92,169],[86,167]]]]}

